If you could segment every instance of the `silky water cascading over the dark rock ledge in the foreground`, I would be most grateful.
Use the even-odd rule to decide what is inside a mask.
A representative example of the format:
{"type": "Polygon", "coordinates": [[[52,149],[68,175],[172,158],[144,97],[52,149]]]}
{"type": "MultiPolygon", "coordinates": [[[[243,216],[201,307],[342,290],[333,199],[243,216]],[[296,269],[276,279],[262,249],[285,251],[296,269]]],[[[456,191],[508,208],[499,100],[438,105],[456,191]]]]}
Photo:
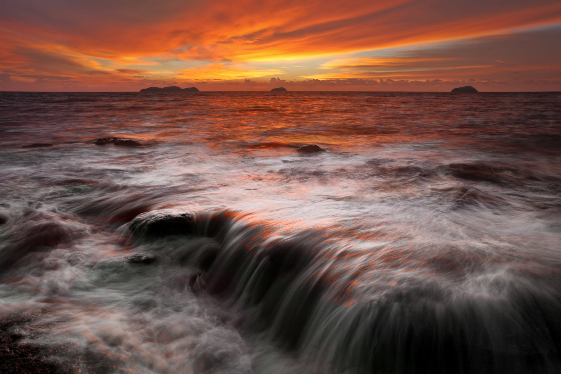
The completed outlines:
{"type": "MultiPolygon", "coordinates": [[[[167,239],[139,235],[139,220],[148,217],[164,215],[132,221],[131,240],[157,241],[162,248],[167,239]]],[[[334,247],[317,230],[278,236],[274,228],[232,211],[199,214],[183,224],[188,237],[174,230],[168,239],[184,245],[168,256],[199,269],[191,287],[243,310],[247,329],[338,370],[561,368],[559,269],[541,273],[539,265],[531,270],[493,263],[486,253],[460,248],[441,256],[435,248],[364,256],[334,247]]]]}

